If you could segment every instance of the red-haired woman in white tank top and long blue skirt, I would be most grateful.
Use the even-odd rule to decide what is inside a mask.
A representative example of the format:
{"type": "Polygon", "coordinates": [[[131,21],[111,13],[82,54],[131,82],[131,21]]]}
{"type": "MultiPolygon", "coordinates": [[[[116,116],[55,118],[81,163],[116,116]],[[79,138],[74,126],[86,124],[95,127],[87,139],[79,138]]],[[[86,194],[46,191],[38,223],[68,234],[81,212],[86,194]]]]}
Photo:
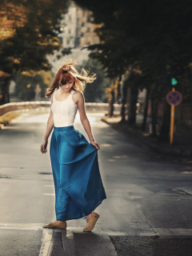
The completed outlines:
{"type": "Polygon", "coordinates": [[[98,167],[100,146],[94,141],[90,122],[86,117],[83,90],[86,82],[94,82],[95,75],[74,68],[77,61],[69,59],[56,74],[52,85],[46,89],[51,95],[50,117],[46,126],[41,152],[46,154],[50,140],[50,162],[54,176],[56,221],[45,228],[66,228],[66,221],[86,216],[83,231],[93,230],[99,214],[94,210],[106,199],[98,167]],[[74,129],[74,118],[80,115],[82,126],[90,142],[74,129]]]}

